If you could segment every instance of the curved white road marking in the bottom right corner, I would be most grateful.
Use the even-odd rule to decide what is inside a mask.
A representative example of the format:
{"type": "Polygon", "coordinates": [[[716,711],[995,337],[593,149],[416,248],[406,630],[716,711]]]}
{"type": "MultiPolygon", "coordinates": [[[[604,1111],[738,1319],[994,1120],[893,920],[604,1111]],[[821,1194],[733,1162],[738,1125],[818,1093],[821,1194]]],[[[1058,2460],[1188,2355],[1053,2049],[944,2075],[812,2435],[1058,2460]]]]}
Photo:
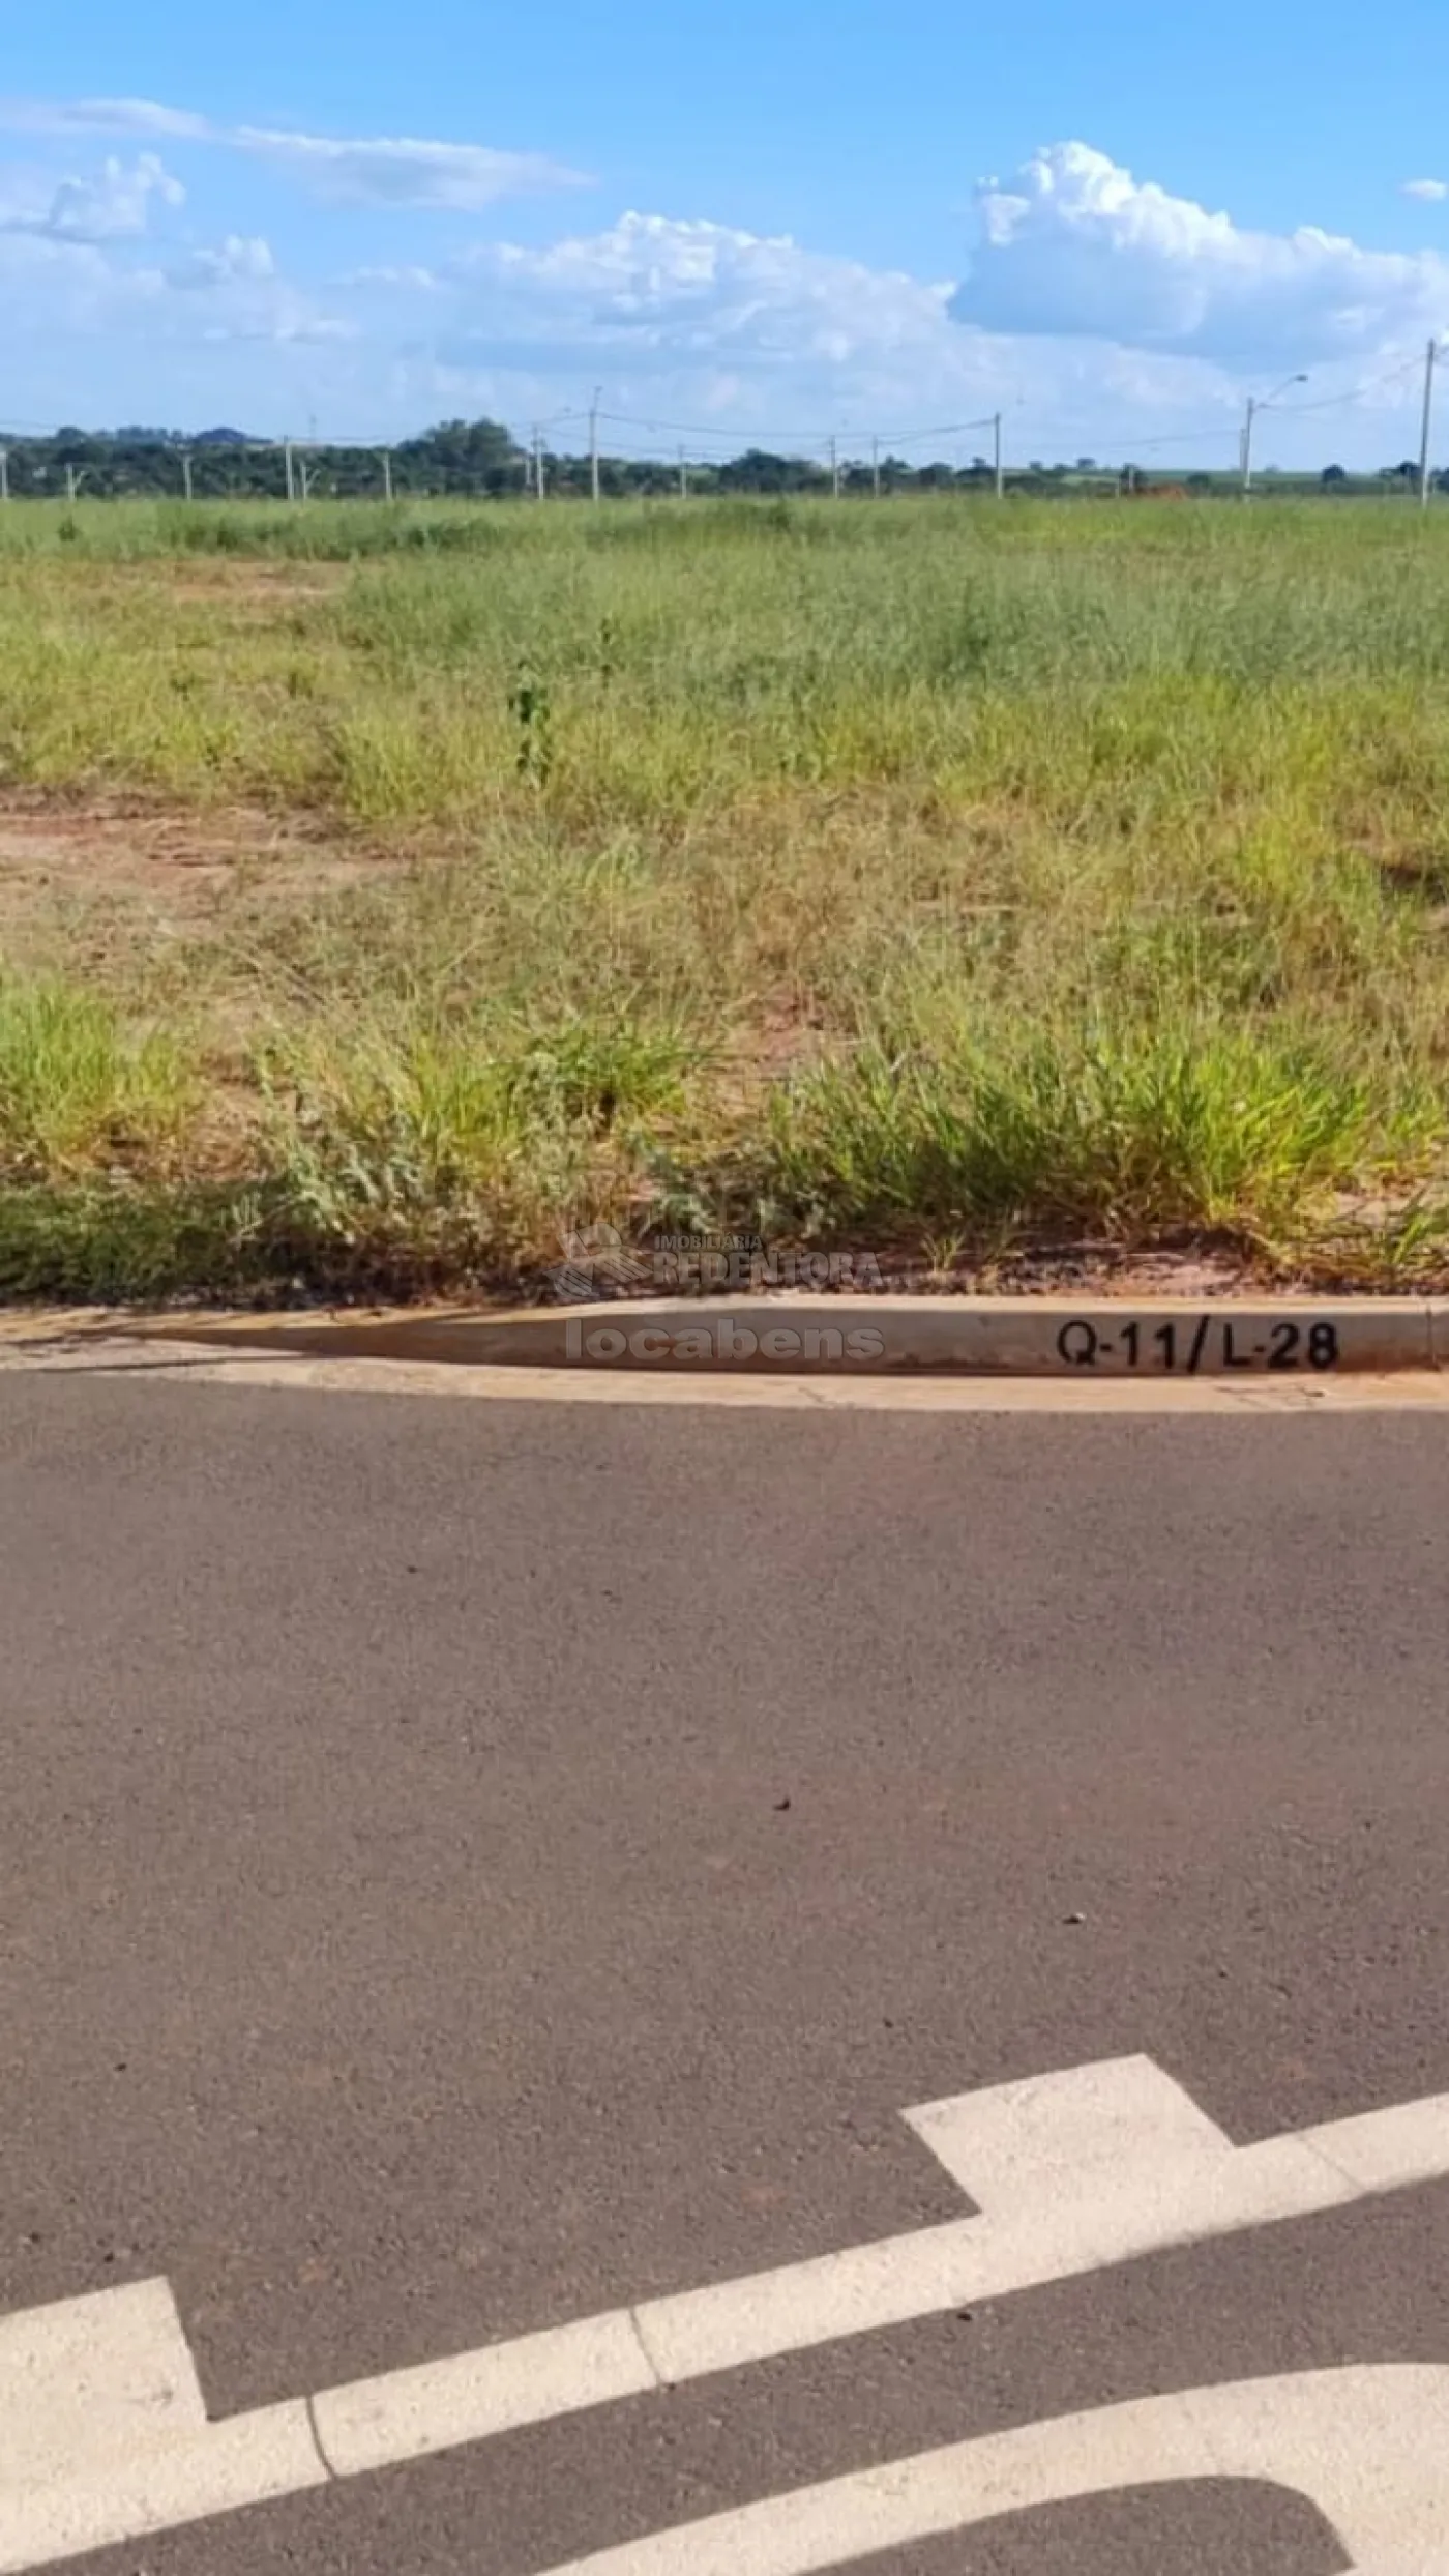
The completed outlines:
{"type": "Polygon", "coordinates": [[[1058,2416],[685,2522],[548,2576],[818,2576],[999,2514],[1184,2478],[1292,2488],[1333,2524],[1359,2576],[1444,2576],[1449,2370],[1305,2370],[1058,2416]]]}

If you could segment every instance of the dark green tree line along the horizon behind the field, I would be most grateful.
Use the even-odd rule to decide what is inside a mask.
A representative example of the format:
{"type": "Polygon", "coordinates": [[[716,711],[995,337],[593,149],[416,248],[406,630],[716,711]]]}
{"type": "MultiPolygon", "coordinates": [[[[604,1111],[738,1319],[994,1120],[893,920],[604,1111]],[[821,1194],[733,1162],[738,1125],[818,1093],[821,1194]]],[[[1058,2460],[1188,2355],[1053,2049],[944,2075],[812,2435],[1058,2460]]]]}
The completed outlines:
{"type": "MultiPolygon", "coordinates": [[[[77,495],[82,500],[180,500],[188,489],[196,500],[286,500],[288,448],[281,440],[255,438],[247,430],[80,430],[59,428],[49,435],[0,433],[5,456],[5,484],[10,500],[54,500],[77,495]]],[[[546,497],[587,500],[592,495],[592,459],[543,448],[535,459],[520,446],[499,420],[443,420],[420,438],[399,438],[378,446],[335,446],[327,440],[293,440],[291,474],[293,495],[314,500],[378,500],[389,489],[396,500],[507,500],[538,497],[535,474],[543,474],[546,497]],[[383,464],[386,459],[386,464],[383,464]]],[[[831,466],[811,456],[785,456],[770,448],[744,448],[726,461],[700,464],[600,456],[600,492],[610,500],[667,497],[682,484],[690,495],[826,495],[834,487],[831,466]]],[[[1418,464],[1400,461],[1377,471],[1351,471],[1331,464],[1318,474],[1277,474],[1259,469],[1261,484],[1315,484],[1325,492],[1364,492],[1385,487],[1418,487],[1418,464]]],[[[1011,492],[1223,492],[1238,477],[1230,471],[1174,474],[1163,466],[1099,464],[1078,456],[1073,464],[1045,464],[1032,459],[1006,474],[1011,492]]],[[[847,495],[880,492],[932,492],[932,489],[983,489],[993,484],[993,464],[973,456],[970,464],[932,459],[911,464],[901,456],[880,456],[878,464],[852,459],[839,466],[839,489],[847,495]]],[[[1449,489],[1449,469],[1434,477],[1436,489],[1449,489]]]]}

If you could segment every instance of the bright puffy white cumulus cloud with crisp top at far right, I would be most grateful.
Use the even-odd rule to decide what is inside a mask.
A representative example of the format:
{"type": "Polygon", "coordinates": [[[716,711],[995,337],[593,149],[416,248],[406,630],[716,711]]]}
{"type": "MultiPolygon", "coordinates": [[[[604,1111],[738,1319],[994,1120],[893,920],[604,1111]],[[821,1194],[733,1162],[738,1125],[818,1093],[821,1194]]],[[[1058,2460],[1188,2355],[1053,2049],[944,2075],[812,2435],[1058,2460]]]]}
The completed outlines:
{"type": "Polygon", "coordinates": [[[1246,232],[1140,183],[1091,144],[1050,144],[978,188],[981,247],[960,322],[1194,348],[1233,366],[1351,358],[1431,327],[1449,301],[1439,252],[1359,250],[1313,224],[1246,232]]]}

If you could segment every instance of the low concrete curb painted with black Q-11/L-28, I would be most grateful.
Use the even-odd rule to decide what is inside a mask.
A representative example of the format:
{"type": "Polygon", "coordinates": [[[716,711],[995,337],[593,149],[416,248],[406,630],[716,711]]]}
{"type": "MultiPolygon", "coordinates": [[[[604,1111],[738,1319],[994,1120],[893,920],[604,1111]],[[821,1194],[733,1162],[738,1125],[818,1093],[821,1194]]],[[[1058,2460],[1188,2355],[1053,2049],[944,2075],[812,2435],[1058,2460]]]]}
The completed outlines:
{"type": "Polygon", "coordinates": [[[512,1314],[178,1314],[108,1329],[327,1360],[649,1376],[1323,1378],[1449,1365],[1449,1298],[620,1298],[512,1314]]]}

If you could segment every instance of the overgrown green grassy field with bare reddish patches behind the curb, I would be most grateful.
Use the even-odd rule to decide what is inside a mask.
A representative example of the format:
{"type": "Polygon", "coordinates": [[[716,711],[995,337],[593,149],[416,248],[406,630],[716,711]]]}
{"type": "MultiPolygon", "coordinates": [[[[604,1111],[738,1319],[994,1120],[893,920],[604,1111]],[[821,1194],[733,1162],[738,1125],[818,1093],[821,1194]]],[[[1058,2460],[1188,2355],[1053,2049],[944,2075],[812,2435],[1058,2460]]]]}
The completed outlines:
{"type": "Polygon", "coordinates": [[[1449,1275],[1449,513],[0,510],[0,1291],[1449,1275]]]}

